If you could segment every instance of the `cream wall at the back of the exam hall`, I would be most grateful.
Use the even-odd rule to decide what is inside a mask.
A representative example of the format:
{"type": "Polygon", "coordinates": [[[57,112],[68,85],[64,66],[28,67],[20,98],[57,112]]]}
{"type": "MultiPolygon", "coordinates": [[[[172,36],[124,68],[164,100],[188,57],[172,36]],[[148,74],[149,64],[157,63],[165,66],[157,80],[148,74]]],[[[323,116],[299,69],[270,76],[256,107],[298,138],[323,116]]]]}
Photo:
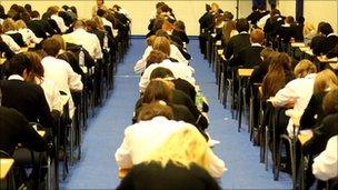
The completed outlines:
{"type": "MultiPolygon", "coordinates": [[[[155,11],[155,4],[157,0],[106,0],[108,7],[112,7],[115,3],[120,4],[128,10],[132,18],[132,34],[147,33],[147,27],[149,18],[155,11]]],[[[236,16],[236,0],[222,0],[222,1],[201,1],[201,0],[169,0],[165,1],[175,11],[178,19],[185,21],[187,32],[190,36],[196,36],[199,32],[198,19],[205,12],[205,4],[217,2],[222,10],[231,11],[236,16]]],[[[9,9],[12,3],[32,4],[33,9],[37,9],[40,13],[44,12],[49,6],[76,6],[80,18],[89,18],[91,16],[91,9],[95,6],[95,0],[6,0],[1,1],[1,4],[9,9]]],[[[311,20],[315,26],[321,20],[330,22],[338,31],[338,0],[305,0],[305,18],[311,20]]],[[[279,0],[278,8],[285,16],[295,16],[295,1],[294,0],[279,0]]],[[[251,11],[251,0],[239,1],[239,17],[246,17],[251,11]]]]}

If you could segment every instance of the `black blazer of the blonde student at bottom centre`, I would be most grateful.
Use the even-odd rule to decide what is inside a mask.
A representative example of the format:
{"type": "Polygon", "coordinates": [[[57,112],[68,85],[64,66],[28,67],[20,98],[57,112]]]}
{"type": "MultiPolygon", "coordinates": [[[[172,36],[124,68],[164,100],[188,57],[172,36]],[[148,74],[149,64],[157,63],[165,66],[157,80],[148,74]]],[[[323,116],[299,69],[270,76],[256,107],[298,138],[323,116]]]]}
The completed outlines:
{"type": "Polygon", "coordinates": [[[140,163],[130,170],[117,190],[220,190],[203,168],[191,163],[189,169],[171,161],[162,168],[158,162],[140,163]]]}

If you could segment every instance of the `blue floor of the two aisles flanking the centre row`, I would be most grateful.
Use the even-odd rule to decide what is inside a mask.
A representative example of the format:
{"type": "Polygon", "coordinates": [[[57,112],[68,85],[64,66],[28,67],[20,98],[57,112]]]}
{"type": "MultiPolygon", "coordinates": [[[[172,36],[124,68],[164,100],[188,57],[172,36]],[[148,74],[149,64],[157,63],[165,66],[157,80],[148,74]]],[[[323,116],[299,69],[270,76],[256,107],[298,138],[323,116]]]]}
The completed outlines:
{"type": "MultiPolygon", "coordinates": [[[[113,153],[123,138],[123,130],[131,122],[135,102],[138,97],[139,78],[133,73],[133,64],[145,50],[143,39],[132,39],[132,46],[119,64],[113,92],[89,120],[83,137],[83,157],[72,167],[70,176],[61,183],[61,189],[115,189],[119,184],[118,167],[113,153]]],[[[237,132],[237,121],[217,100],[215,74],[199,52],[198,41],[191,40],[189,52],[196,79],[210,103],[209,133],[220,143],[213,148],[225,160],[228,171],[220,179],[223,189],[291,189],[288,174],[281,173],[274,181],[271,170],[266,171],[259,163],[259,149],[252,147],[243,124],[237,132]]]]}

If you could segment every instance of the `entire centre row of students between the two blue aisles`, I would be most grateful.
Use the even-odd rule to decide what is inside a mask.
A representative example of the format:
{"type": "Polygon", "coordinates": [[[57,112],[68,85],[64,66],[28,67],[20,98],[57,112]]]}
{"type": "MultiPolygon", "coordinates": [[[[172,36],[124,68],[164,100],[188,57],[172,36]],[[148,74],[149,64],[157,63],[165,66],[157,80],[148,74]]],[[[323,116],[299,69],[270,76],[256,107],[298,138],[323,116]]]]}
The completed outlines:
{"type": "Polygon", "coordinates": [[[120,169],[131,169],[118,189],[219,189],[213,178],[226,167],[208,146],[208,120],[196,106],[193,69],[176,60],[180,52],[162,27],[153,33],[141,59],[135,123],[126,128],[115,154],[120,169]]]}

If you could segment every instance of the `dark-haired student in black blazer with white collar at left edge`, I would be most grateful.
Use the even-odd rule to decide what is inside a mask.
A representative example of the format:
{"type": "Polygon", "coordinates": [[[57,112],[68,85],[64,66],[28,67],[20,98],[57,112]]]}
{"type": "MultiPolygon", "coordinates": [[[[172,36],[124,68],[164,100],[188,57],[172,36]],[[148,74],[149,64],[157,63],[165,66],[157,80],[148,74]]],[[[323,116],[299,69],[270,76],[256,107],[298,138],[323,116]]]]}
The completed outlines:
{"type": "Polygon", "coordinates": [[[42,88],[32,82],[24,82],[31,69],[32,63],[23,53],[9,60],[9,78],[0,81],[2,106],[17,109],[30,122],[52,128],[52,117],[42,88]]]}

